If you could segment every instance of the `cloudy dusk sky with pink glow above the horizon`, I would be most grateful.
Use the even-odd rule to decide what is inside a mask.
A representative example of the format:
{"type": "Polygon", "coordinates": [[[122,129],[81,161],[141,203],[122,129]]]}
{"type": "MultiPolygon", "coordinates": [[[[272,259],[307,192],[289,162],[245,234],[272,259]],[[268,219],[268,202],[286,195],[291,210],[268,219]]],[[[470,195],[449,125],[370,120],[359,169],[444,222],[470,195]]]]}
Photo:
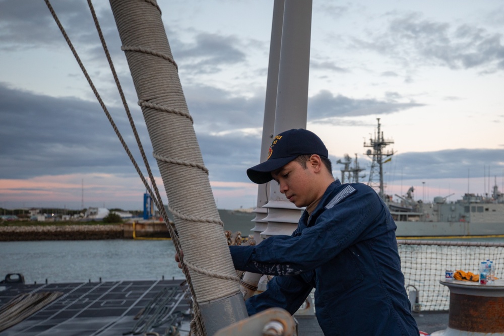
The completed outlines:
{"type": "MultiPolygon", "coordinates": [[[[259,163],[273,1],[159,3],[217,206],[254,207],[245,170],[259,163]]],[[[52,5],[141,162],[87,2],[52,5]]],[[[159,175],[110,6],[94,6],[159,175]]],[[[307,128],[334,175],[357,154],[367,182],[363,144],[380,118],[396,152],[387,193],[502,190],[502,34],[498,0],[313,2],[307,128]]],[[[0,158],[0,208],[142,208],[145,188],[39,0],[0,0],[0,158]]]]}

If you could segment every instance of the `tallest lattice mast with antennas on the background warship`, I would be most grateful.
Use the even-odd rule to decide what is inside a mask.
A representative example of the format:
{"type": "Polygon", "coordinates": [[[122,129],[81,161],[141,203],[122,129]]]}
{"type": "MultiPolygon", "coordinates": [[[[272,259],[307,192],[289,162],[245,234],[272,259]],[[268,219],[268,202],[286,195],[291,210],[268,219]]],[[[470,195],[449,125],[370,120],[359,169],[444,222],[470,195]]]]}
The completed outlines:
{"type": "Polygon", "coordinates": [[[383,136],[383,131],[380,130],[380,118],[378,120],[378,131],[374,135],[374,139],[369,139],[369,143],[364,142],[364,147],[370,147],[373,150],[368,149],[366,155],[372,159],[371,169],[369,173],[369,181],[367,185],[377,190],[378,194],[382,199],[385,200],[385,188],[383,184],[383,164],[389,162],[391,158],[383,161],[384,157],[390,157],[394,155],[394,150],[384,152],[383,149],[390,144],[393,144],[393,140],[385,139],[383,136]]]}

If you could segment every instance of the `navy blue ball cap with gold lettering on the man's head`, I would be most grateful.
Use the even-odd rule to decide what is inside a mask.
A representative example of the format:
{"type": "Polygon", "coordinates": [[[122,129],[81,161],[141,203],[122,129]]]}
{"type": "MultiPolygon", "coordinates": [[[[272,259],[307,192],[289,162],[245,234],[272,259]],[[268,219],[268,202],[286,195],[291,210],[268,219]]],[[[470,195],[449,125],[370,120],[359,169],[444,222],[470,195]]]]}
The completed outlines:
{"type": "Polygon", "coordinates": [[[327,148],[320,138],[313,132],[298,128],[281,132],[273,139],[268,159],[257,166],[247,169],[248,178],[257,184],[271,181],[271,172],[282,168],[299,155],[318,154],[328,157],[327,148]]]}

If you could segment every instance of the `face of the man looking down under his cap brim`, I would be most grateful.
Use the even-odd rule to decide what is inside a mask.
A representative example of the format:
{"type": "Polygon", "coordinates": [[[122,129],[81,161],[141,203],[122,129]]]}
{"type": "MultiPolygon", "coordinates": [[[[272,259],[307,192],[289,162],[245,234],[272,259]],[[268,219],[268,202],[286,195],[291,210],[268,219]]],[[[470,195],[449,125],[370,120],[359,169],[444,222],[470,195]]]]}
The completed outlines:
{"type": "Polygon", "coordinates": [[[296,160],[289,162],[280,169],[271,172],[273,179],[280,185],[280,192],[298,208],[309,206],[317,199],[317,192],[313,188],[315,177],[312,167],[307,162],[304,168],[296,160]]]}

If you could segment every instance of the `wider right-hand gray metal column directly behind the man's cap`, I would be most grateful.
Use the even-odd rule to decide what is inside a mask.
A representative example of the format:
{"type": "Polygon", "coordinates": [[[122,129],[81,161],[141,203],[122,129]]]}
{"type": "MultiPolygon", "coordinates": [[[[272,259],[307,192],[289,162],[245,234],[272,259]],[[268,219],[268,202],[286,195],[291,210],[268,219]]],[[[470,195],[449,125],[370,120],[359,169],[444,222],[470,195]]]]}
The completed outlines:
{"type": "MultiPolygon", "coordinates": [[[[291,128],[306,128],[312,1],[286,1],[278,70],[274,134],[291,128]]],[[[301,217],[281,194],[278,184],[270,185],[267,229],[261,236],[292,234],[301,217]]]]}

